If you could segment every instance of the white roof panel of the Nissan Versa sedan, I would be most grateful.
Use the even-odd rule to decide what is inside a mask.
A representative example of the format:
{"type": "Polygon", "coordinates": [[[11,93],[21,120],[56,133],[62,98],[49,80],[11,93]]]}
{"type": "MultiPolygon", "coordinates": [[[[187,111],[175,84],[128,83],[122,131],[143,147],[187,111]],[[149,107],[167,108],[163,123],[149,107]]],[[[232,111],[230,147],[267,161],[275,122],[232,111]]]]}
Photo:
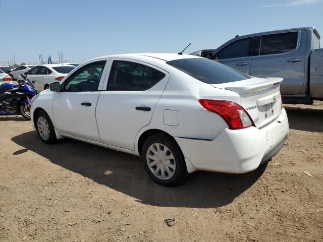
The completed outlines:
{"type": "Polygon", "coordinates": [[[177,53],[129,53],[129,54],[112,54],[105,55],[91,59],[102,59],[102,58],[130,58],[130,59],[159,59],[163,62],[173,61],[175,59],[185,59],[185,58],[199,58],[198,56],[190,54],[177,54],[177,53]]]}

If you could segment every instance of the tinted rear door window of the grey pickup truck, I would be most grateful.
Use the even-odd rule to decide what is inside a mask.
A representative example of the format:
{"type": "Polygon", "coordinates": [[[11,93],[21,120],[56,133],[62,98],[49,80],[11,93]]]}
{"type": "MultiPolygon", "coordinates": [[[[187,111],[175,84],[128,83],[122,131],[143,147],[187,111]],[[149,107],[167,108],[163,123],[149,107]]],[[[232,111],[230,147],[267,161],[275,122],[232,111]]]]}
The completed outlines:
{"type": "Polygon", "coordinates": [[[297,46],[298,32],[269,34],[261,37],[260,55],[286,53],[297,46]]]}

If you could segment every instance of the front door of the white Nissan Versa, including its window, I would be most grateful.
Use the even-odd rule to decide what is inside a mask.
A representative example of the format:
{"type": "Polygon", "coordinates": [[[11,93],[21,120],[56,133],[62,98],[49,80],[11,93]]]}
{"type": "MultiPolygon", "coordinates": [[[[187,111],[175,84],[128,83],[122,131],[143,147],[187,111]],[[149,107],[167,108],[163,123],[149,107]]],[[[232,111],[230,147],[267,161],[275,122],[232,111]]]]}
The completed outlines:
{"type": "Polygon", "coordinates": [[[62,90],[55,94],[53,116],[55,127],[60,133],[100,142],[95,107],[106,62],[95,61],[80,67],[61,85],[62,90]]]}

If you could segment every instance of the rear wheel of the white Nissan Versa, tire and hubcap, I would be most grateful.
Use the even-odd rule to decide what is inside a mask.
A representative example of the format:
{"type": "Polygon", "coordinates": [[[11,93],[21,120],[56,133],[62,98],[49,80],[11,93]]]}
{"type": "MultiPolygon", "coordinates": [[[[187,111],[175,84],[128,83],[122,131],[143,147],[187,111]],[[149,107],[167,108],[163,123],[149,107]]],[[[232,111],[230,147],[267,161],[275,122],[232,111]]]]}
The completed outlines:
{"type": "Polygon", "coordinates": [[[149,176],[161,186],[176,186],[188,175],[180,147],[167,135],[150,136],[143,144],[141,154],[149,176]]]}

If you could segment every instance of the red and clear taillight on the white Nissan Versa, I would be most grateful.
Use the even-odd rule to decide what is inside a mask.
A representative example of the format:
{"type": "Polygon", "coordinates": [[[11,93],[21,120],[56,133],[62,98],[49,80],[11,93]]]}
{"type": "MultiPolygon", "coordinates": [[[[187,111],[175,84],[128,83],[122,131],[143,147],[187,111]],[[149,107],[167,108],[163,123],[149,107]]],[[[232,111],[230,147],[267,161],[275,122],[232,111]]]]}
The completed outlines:
{"type": "Polygon", "coordinates": [[[239,104],[230,101],[199,99],[205,109],[218,113],[232,130],[253,126],[250,116],[239,104]]]}

